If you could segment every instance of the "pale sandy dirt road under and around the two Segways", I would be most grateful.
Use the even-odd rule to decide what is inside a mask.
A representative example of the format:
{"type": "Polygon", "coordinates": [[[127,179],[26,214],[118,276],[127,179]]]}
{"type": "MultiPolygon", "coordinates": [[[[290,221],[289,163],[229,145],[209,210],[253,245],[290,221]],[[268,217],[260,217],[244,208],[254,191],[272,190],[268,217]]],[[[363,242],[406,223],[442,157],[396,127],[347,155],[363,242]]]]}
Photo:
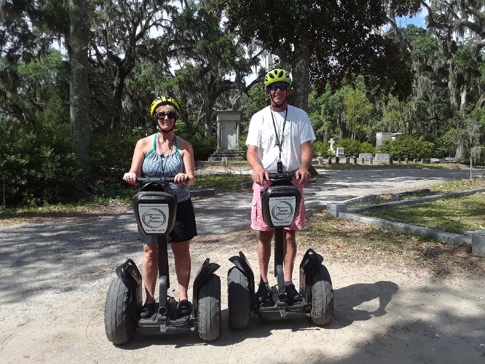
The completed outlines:
{"type": "MultiPolygon", "coordinates": [[[[309,194],[307,201],[314,198],[324,203],[389,190],[389,186],[412,188],[427,183],[415,179],[425,176],[415,175],[395,176],[393,185],[392,177],[377,180],[369,173],[355,181],[346,179],[346,173],[336,174],[330,175],[326,186],[333,187],[326,197],[322,186],[314,185],[308,190],[314,195],[309,194]]],[[[0,362],[485,362],[483,277],[437,279],[423,267],[390,267],[383,263],[385,257],[382,264],[355,266],[320,252],[334,289],[335,311],[327,326],[317,327],[305,319],[260,323],[255,316],[247,330],[230,331],[225,292],[228,258],[243,250],[257,266],[253,235],[239,221],[247,216],[247,199],[229,195],[195,202],[200,236],[191,246],[192,273],[206,256],[221,264],[217,273],[222,280],[223,333],[213,343],[200,341],[195,333],[137,335],[122,347],[106,339],[104,304],[114,267],[127,257],[138,266],[141,263],[132,213],[99,212],[3,226],[0,362]],[[230,215],[231,211],[239,212],[230,215]]],[[[299,244],[311,246],[309,241],[299,244]]],[[[297,269],[294,277],[298,281],[297,269]]]]}

